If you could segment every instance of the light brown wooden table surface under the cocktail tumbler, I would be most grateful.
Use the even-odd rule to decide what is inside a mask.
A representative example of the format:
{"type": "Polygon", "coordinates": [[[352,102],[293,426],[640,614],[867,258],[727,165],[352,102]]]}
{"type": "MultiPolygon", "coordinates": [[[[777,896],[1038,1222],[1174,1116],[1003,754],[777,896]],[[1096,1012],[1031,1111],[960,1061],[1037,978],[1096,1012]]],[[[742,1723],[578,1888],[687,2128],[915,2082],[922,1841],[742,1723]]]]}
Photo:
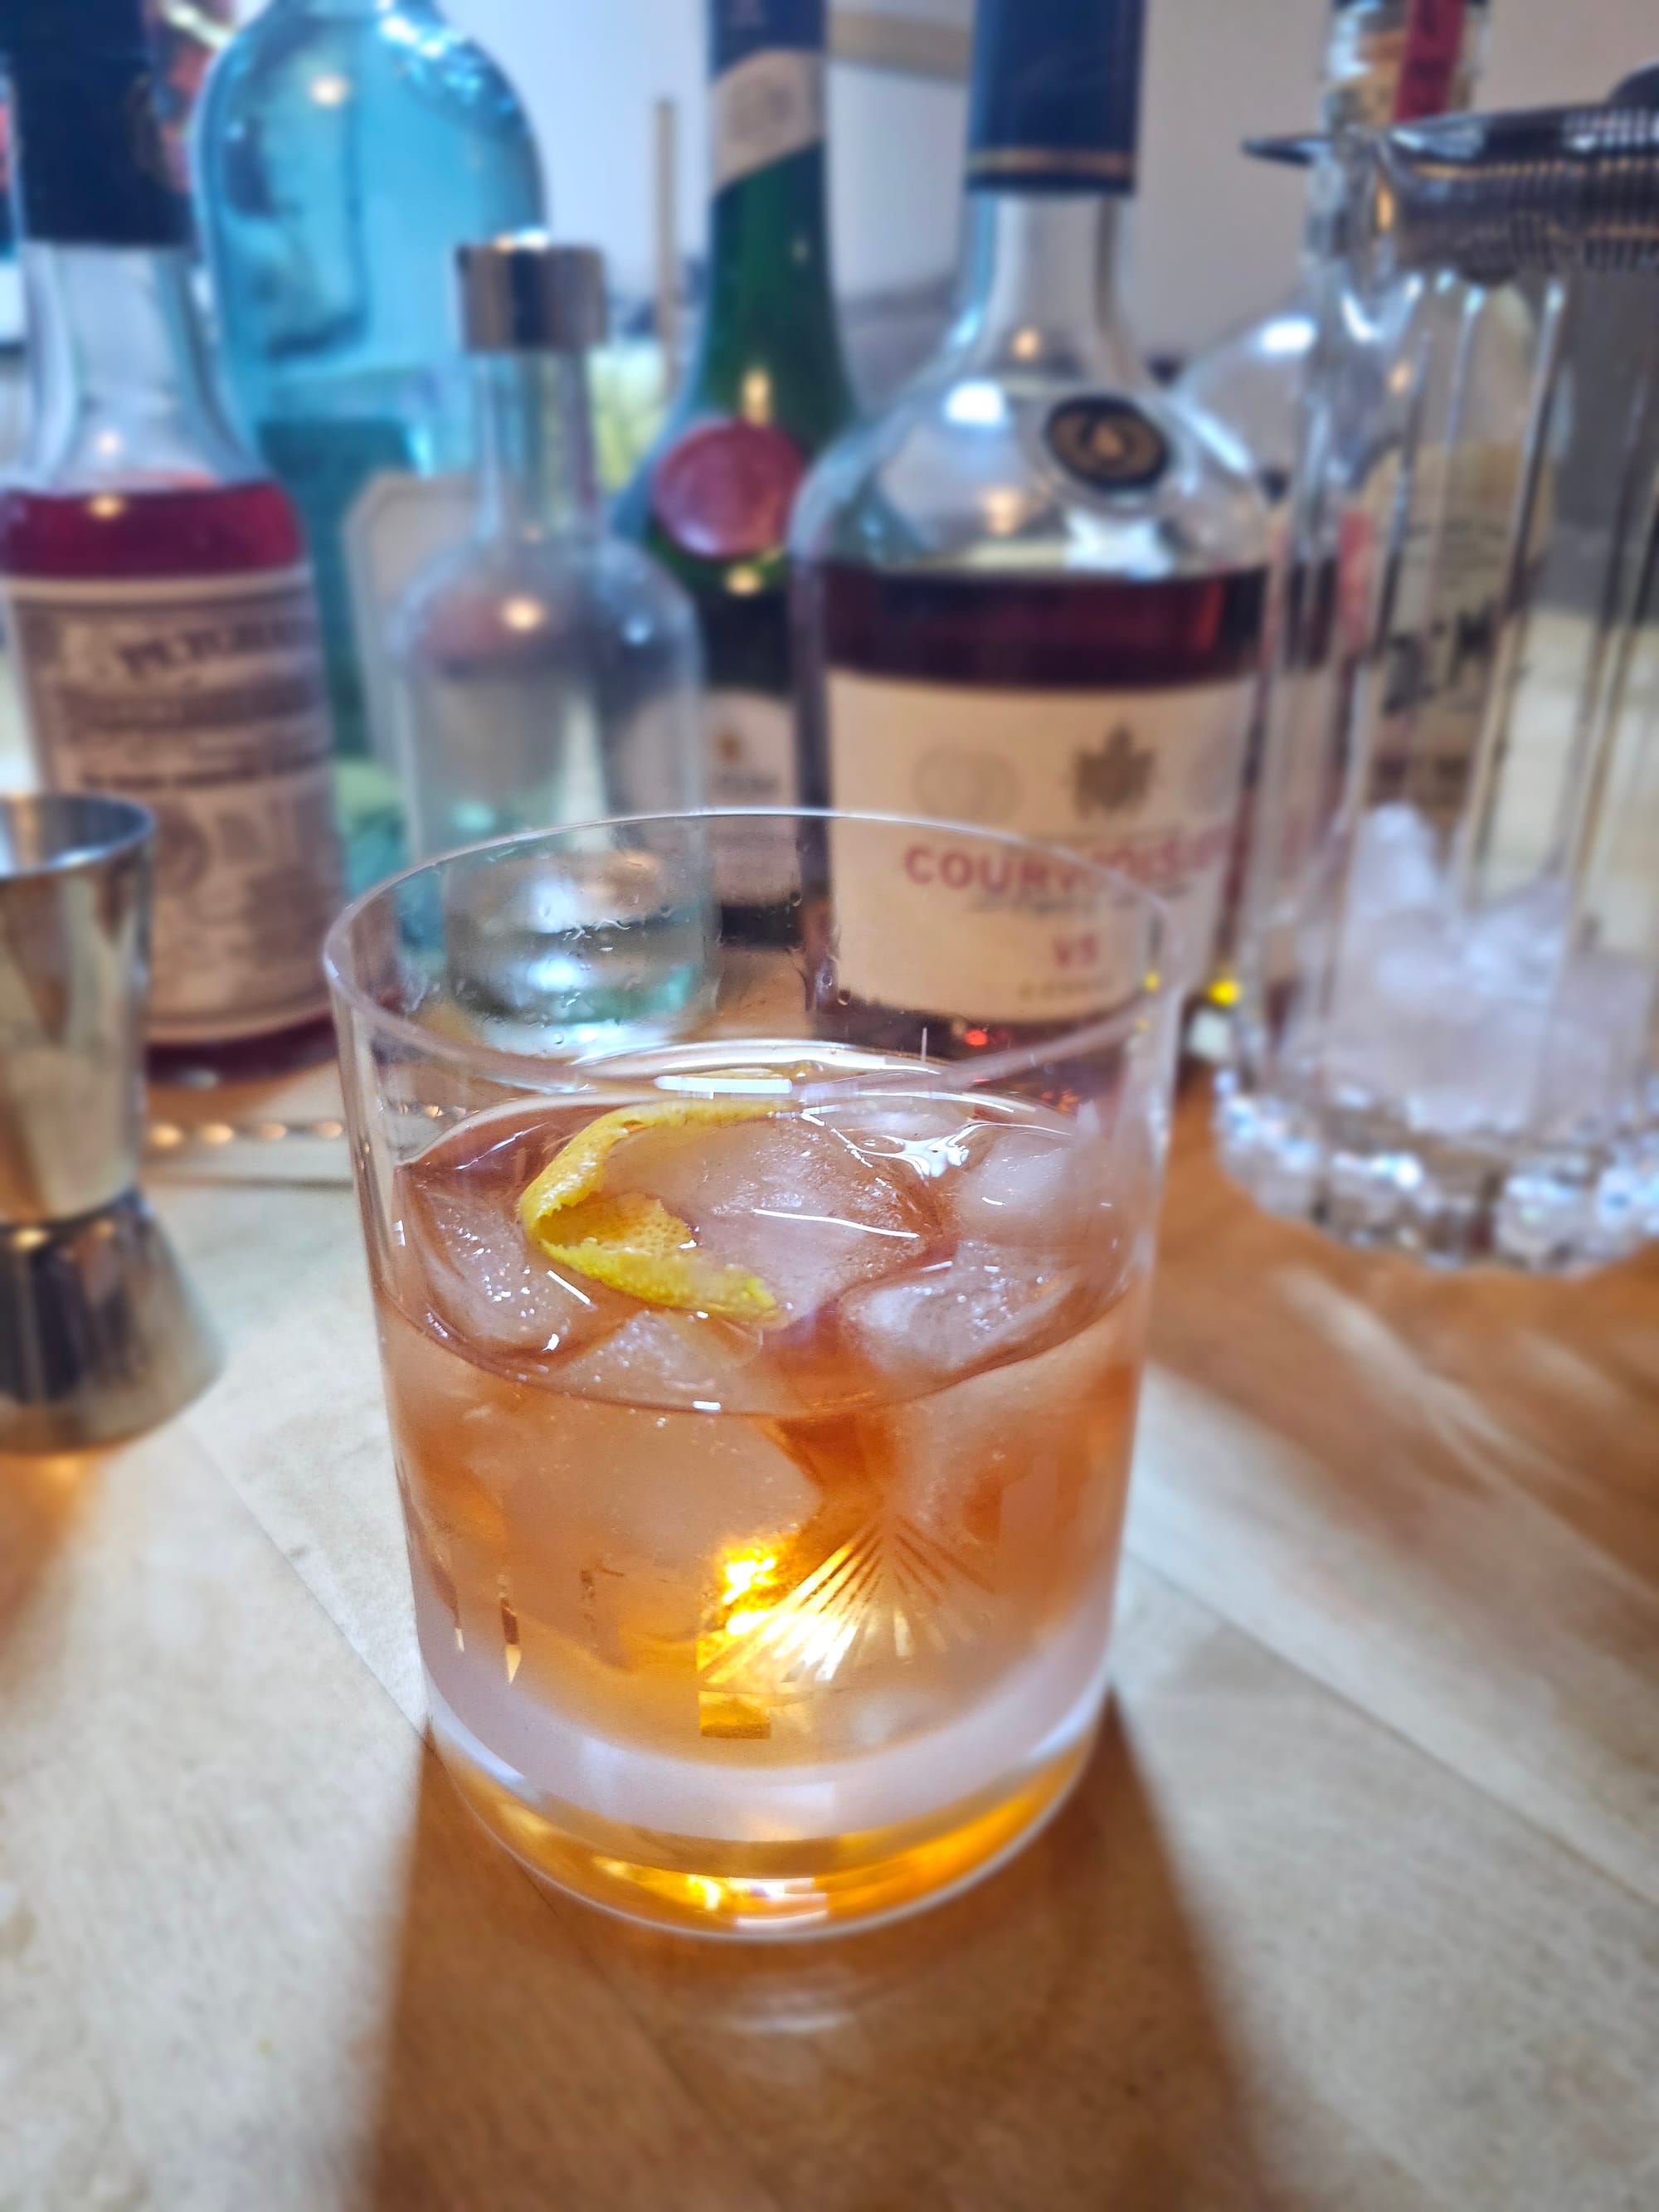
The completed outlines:
{"type": "Polygon", "coordinates": [[[721,1949],[542,1893],[425,1745],[334,1113],[184,1113],[221,1380],[0,1462],[0,2212],[1659,2208],[1659,1265],[1334,1250],[1188,1102],[1082,1794],[721,1949]]]}

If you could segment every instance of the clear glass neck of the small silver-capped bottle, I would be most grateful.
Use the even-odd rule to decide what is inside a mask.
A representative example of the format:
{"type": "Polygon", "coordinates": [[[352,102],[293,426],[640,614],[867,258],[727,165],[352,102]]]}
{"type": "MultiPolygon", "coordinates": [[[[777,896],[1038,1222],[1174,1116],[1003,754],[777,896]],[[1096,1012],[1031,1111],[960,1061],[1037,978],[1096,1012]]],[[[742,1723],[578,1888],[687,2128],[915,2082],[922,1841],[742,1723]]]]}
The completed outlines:
{"type": "Polygon", "coordinates": [[[478,538],[599,529],[586,354],[478,354],[478,538]]]}

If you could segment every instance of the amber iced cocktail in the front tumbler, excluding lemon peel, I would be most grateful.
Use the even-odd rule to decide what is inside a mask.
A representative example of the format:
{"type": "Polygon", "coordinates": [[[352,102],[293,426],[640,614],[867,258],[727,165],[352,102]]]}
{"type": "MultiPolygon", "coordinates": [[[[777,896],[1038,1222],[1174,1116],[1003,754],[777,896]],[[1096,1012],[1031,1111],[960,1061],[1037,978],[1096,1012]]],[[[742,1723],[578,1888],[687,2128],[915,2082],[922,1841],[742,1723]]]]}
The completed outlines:
{"type": "Polygon", "coordinates": [[[984,1871],[1099,1699],[1144,1312],[1099,1223],[1128,1179],[1031,1108],[836,1117],[611,1155],[606,1188],[770,1279],[759,1334],[524,1243],[582,1113],[482,1117],[403,1170],[378,1283],[438,1745],[538,1871],[677,1927],[801,1933],[984,1871]]]}

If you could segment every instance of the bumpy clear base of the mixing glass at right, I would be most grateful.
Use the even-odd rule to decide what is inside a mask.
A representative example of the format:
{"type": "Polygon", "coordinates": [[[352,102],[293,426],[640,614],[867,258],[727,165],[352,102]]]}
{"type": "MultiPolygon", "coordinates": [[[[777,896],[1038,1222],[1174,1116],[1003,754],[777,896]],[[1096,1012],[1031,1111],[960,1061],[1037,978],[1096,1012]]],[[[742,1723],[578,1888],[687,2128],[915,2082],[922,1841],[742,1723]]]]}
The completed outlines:
{"type": "Polygon", "coordinates": [[[1234,1084],[1217,1106],[1217,1150],[1267,1212],[1431,1265],[1579,1274],[1659,1239],[1659,1146],[1504,1148],[1234,1084]]]}

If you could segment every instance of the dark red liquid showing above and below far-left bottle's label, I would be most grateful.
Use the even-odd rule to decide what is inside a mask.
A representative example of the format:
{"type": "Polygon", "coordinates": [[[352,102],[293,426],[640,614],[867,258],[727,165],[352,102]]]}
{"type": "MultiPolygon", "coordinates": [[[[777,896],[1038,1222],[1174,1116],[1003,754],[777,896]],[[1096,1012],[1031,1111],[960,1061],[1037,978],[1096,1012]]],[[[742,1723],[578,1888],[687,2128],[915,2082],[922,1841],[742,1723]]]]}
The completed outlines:
{"type": "MultiPolygon", "coordinates": [[[[294,509],[272,482],[177,491],[0,491],[0,573],[75,582],[246,575],[305,560],[294,509]]],[[[237,1082],[325,1060],[327,1015],[221,1044],[157,1046],[157,1082],[237,1082]]]]}

